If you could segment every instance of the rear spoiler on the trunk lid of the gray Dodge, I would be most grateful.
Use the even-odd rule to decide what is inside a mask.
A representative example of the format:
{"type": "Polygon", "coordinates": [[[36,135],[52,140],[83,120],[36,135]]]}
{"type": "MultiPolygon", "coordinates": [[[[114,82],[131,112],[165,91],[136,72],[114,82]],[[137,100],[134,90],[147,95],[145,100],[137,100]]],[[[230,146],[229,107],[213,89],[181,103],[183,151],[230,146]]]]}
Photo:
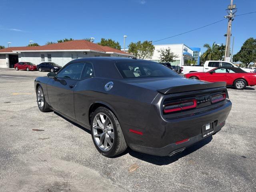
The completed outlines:
{"type": "Polygon", "coordinates": [[[170,88],[159,89],[157,91],[163,94],[171,94],[171,93],[180,93],[180,92],[187,92],[187,91],[196,91],[196,90],[202,90],[202,89],[225,87],[225,86],[226,86],[226,82],[215,82],[215,83],[174,86],[170,88]]]}

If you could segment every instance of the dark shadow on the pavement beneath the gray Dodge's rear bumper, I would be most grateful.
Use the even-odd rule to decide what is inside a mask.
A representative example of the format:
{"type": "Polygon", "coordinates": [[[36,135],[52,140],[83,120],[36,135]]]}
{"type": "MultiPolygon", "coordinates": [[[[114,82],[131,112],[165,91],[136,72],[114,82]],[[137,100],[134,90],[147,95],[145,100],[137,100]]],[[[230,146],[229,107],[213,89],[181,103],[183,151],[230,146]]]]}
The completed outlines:
{"type": "Polygon", "coordinates": [[[143,154],[140,152],[135,152],[131,149],[128,149],[128,153],[135,158],[138,158],[140,160],[143,160],[143,161],[155,164],[155,165],[160,165],[160,166],[168,165],[168,164],[171,164],[171,163],[179,160],[180,158],[202,148],[203,146],[208,144],[211,140],[212,140],[212,136],[209,136],[208,138],[205,138],[204,140],[194,144],[193,146],[186,148],[183,152],[176,154],[174,156],[160,157],[160,156],[154,156],[154,155],[143,154]]]}

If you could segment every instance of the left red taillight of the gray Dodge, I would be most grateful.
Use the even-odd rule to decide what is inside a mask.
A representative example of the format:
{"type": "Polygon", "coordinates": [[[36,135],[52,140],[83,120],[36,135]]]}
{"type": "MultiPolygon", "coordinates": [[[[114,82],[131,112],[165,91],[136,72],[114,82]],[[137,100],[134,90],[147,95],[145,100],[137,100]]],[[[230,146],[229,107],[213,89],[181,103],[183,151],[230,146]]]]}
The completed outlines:
{"type": "Polygon", "coordinates": [[[164,113],[171,113],[176,111],[192,109],[192,108],[196,108],[196,106],[197,106],[196,99],[168,103],[164,105],[164,113]]]}

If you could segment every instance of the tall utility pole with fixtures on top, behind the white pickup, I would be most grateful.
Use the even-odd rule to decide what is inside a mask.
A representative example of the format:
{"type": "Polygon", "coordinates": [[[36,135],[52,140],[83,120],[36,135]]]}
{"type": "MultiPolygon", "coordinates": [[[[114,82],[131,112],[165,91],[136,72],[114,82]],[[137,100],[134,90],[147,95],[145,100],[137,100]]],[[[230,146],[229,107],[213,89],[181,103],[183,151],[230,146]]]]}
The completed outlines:
{"type": "Polygon", "coordinates": [[[226,36],[226,49],[225,49],[225,61],[230,61],[230,37],[231,37],[231,24],[232,21],[234,20],[234,14],[233,10],[236,10],[236,5],[233,5],[233,0],[231,0],[230,5],[228,5],[228,15],[224,16],[226,19],[228,19],[228,29],[227,29],[227,34],[226,36]]]}

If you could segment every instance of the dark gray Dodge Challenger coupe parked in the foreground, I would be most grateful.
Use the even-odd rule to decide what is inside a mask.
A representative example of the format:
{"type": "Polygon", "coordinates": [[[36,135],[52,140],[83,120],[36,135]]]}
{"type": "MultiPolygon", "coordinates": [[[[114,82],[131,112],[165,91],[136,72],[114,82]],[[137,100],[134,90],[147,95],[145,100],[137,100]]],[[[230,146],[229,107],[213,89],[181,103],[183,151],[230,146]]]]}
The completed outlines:
{"type": "Polygon", "coordinates": [[[133,58],[72,60],[36,78],[40,111],[54,110],[90,129],[97,150],[172,156],[218,132],[232,103],[225,82],[186,79],[160,63],[133,58]]]}

